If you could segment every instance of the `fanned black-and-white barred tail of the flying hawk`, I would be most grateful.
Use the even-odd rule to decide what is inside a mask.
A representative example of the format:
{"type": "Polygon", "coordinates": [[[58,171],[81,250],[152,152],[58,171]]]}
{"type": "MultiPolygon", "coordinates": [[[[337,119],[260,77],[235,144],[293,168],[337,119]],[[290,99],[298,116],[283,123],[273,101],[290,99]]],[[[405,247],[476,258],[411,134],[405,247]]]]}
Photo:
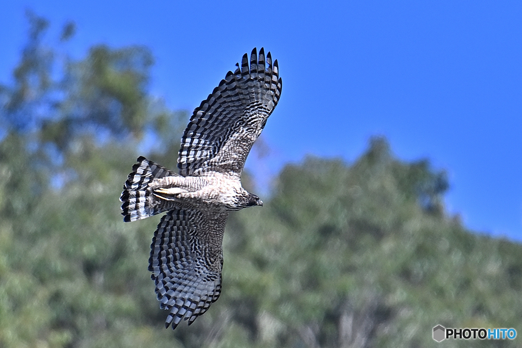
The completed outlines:
{"type": "Polygon", "coordinates": [[[123,221],[136,221],[159,214],[171,207],[155,199],[149,184],[156,178],[164,176],[177,176],[179,174],[169,171],[165,167],[140,156],[138,163],[132,167],[127,181],[123,185],[120,197],[122,204],[123,221]]]}

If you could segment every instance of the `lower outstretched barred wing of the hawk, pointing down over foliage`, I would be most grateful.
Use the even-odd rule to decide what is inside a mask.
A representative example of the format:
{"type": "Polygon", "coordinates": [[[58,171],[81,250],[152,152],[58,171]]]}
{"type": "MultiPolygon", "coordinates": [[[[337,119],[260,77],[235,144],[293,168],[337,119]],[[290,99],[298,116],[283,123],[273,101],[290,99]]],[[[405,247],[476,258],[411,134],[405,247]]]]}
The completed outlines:
{"type": "Polygon", "coordinates": [[[222,241],[228,212],[207,215],[174,209],[163,216],[150,245],[149,271],[160,308],[170,310],[165,327],[188,325],[221,293],[222,241]]]}

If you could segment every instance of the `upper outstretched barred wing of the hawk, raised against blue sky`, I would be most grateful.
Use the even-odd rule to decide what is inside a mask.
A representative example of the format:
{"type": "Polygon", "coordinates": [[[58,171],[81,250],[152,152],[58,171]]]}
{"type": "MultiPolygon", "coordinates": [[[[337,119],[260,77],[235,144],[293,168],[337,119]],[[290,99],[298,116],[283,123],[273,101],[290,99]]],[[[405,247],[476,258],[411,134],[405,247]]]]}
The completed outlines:
{"type": "Polygon", "coordinates": [[[241,176],[246,157],[265,127],[281,95],[277,60],[262,48],[252,50],[250,65],[229,71],[207,100],[194,110],[181,139],[177,167],[180,174],[208,171],[241,176]]]}

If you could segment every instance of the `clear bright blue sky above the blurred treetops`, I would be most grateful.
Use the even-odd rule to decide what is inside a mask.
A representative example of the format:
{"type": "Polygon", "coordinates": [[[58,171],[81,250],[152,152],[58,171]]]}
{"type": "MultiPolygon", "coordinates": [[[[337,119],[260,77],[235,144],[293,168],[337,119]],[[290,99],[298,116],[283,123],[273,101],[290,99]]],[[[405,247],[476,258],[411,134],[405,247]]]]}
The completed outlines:
{"type": "Polygon", "coordinates": [[[0,81],[25,10],[77,24],[68,51],[143,44],[150,91],[193,110],[242,54],[264,46],[283,91],[264,131],[275,174],[305,154],[351,162],[372,135],[446,169],[446,204],[473,230],[522,241],[522,2],[13,1],[0,5],[0,81]]]}

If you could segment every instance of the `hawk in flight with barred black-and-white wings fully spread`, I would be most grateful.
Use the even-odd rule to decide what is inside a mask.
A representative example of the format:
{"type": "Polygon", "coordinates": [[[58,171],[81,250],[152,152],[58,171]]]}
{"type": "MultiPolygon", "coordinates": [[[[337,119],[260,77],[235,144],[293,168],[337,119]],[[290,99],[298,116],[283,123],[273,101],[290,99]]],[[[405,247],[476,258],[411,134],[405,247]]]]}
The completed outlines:
{"type": "Polygon", "coordinates": [[[241,186],[254,141],[281,95],[270,52],[245,54],[194,110],[181,138],[178,172],[139,157],[120,197],[123,220],[166,211],[152,237],[149,271],[165,328],[191,325],[221,293],[223,233],[231,210],[263,206],[241,186]]]}

